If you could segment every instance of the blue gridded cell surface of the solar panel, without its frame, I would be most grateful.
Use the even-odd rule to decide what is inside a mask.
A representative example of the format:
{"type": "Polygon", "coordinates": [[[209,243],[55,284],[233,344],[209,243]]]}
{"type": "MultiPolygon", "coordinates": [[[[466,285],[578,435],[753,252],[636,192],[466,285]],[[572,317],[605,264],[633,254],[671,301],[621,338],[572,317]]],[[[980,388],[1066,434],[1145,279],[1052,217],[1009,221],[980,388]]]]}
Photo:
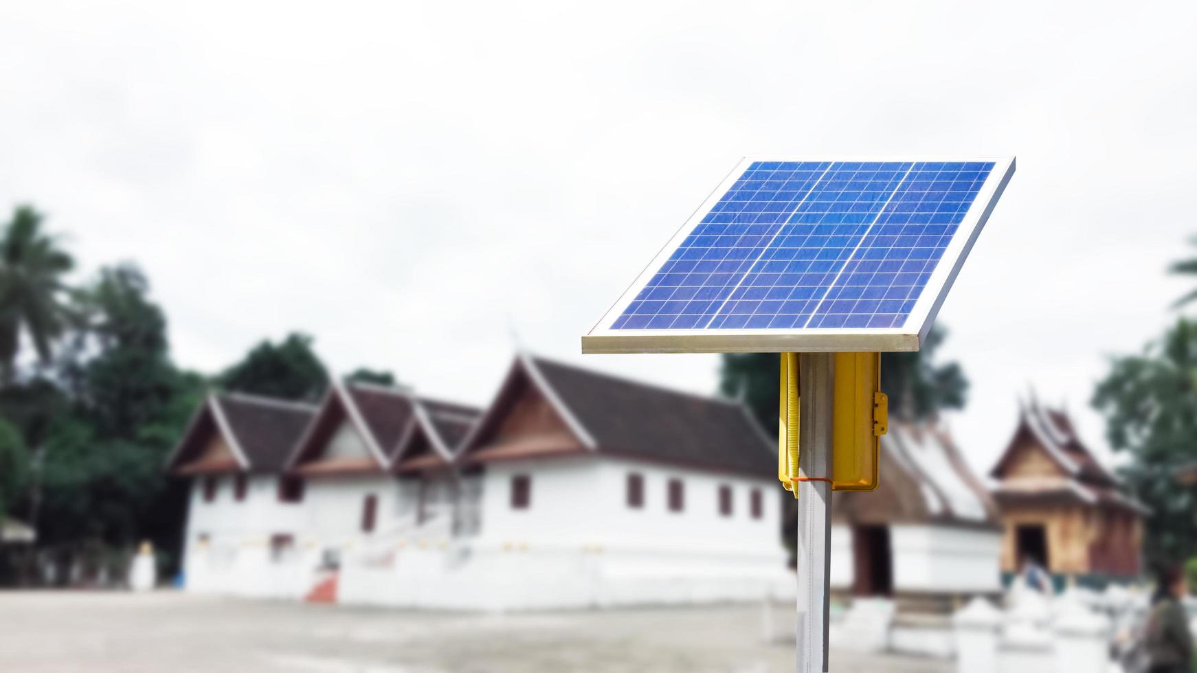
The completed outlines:
{"type": "Polygon", "coordinates": [[[900,328],[992,169],[753,163],[612,329],[900,328]]]}

